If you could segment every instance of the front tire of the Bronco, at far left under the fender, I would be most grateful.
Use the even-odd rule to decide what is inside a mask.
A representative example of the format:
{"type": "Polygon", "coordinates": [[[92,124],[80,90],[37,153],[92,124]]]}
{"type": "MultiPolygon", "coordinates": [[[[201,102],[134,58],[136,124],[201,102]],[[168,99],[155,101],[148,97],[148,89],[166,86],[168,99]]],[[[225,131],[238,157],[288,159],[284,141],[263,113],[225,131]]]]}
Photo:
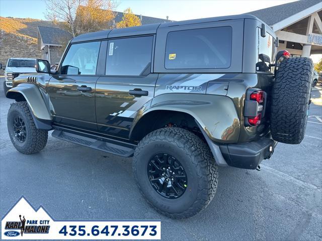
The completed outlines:
{"type": "MultiPolygon", "coordinates": [[[[7,117],[8,132],[12,144],[17,149],[17,151],[23,154],[33,154],[38,153],[47,144],[48,131],[39,130],[36,128],[34,120],[32,118],[28,103],[26,101],[15,102],[11,104],[8,117],[7,117]],[[15,118],[19,119],[23,123],[24,130],[24,141],[20,141],[15,133],[15,118]]],[[[16,130],[17,132],[17,130],[16,130]]]]}

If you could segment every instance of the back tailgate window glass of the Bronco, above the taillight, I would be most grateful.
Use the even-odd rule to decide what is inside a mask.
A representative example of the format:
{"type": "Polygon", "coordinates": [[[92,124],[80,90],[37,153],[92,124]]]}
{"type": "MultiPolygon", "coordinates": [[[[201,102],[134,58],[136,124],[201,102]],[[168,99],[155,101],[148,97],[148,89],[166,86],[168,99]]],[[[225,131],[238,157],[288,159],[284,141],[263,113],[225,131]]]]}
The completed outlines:
{"type": "Polygon", "coordinates": [[[268,65],[274,62],[274,39],[268,33],[266,33],[266,37],[262,37],[260,28],[257,28],[257,31],[258,62],[256,64],[256,70],[261,72],[273,72],[273,68],[269,68],[268,65]]]}

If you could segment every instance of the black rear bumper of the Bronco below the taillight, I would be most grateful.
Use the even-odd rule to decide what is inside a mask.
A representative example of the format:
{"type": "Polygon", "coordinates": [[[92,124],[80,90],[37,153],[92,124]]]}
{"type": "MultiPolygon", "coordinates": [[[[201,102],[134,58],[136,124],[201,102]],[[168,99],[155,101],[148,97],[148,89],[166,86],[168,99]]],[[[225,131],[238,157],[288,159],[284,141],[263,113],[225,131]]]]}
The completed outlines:
{"type": "Polygon", "coordinates": [[[271,157],[276,145],[274,140],[262,137],[247,143],[219,145],[219,149],[228,166],[256,169],[264,159],[271,157]]]}

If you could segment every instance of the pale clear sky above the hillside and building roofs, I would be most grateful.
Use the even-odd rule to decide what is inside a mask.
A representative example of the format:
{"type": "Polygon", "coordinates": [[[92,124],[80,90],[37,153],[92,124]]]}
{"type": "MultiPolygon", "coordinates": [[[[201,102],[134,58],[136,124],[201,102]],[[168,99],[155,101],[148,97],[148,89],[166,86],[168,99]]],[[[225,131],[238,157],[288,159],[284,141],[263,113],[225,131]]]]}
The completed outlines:
{"type": "MultiPolygon", "coordinates": [[[[188,20],[243,14],[294,0],[211,1],[211,0],[119,0],[117,11],[131,8],[135,14],[170,20],[188,20]]],[[[0,0],[0,16],[45,20],[44,0],[0,0]]]]}

